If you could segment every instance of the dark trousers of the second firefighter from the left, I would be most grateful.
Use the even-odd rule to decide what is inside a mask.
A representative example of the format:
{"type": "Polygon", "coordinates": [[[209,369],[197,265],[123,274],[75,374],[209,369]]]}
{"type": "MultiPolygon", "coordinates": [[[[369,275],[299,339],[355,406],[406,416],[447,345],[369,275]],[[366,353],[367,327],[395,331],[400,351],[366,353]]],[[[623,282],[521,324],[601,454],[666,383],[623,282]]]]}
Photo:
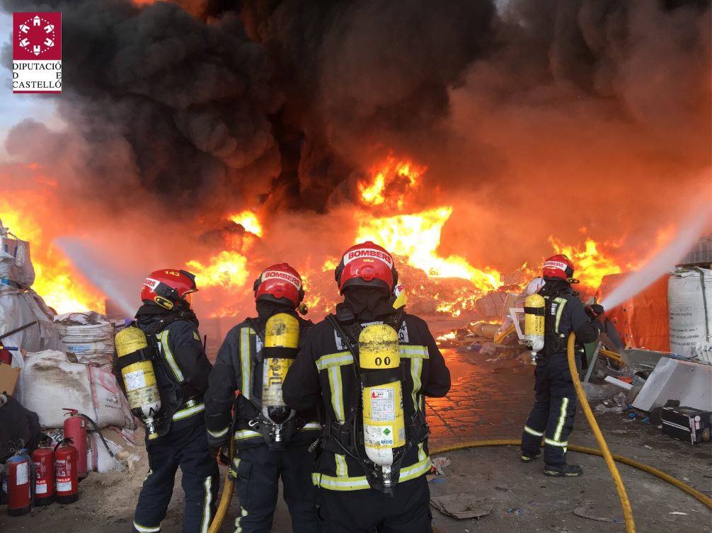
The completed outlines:
{"type": "Polygon", "coordinates": [[[235,533],[271,532],[280,478],[292,531],[318,532],[316,488],[311,480],[314,455],[308,450],[310,443],[294,440],[284,450],[270,450],[261,444],[238,451],[235,462],[240,513],[235,533]]]}

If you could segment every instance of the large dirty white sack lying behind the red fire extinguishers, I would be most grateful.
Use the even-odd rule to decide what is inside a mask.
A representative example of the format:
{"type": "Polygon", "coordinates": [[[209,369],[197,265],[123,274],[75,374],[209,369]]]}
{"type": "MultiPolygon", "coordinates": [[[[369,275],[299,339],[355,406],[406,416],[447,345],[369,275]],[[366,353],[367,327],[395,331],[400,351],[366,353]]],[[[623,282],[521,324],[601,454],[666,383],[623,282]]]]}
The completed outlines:
{"type": "Polygon", "coordinates": [[[66,411],[77,409],[100,428],[135,428],[135,418],[116,377],[98,366],[70,362],[63,352],[27,354],[20,374],[23,406],[44,428],[61,428],[66,411]]]}

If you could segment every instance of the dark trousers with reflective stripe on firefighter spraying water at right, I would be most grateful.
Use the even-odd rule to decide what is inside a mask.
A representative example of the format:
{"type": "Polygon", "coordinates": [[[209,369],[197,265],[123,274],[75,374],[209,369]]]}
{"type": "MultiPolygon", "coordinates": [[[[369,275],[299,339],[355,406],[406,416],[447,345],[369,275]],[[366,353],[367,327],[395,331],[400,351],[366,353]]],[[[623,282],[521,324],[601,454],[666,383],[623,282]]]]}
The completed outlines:
{"type": "Polygon", "coordinates": [[[522,435],[522,453],[539,453],[544,439],[544,462],[566,464],[568,438],[574,428],[576,389],[565,354],[553,354],[538,362],[534,373],[535,401],[522,435]]]}

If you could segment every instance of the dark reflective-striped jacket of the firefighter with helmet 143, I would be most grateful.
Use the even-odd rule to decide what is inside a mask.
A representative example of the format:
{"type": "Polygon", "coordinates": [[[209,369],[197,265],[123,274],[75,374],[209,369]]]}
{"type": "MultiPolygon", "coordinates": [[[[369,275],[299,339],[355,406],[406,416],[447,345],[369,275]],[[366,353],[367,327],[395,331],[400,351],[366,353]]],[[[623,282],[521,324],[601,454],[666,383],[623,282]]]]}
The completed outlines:
{"type": "Polygon", "coordinates": [[[191,312],[182,317],[157,305],[142,305],[136,323],[157,352],[153,362],[161,396],[159,435],[201,422],[212,365],[195,315],[191,312]]]}

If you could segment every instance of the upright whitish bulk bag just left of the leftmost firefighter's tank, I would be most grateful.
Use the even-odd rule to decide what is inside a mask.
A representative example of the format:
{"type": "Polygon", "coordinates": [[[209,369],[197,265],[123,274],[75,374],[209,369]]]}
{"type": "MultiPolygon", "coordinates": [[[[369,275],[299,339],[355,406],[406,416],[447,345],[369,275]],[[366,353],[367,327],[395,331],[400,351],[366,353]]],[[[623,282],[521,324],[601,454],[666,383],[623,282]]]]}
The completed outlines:
{"type": "Polygon", "coordinates": [[[114,327],[97,312],[69,313],[55,318],[59,337],[67,352],[80,363],[93,363],[109,369],[114,357],[114,327]]]}

